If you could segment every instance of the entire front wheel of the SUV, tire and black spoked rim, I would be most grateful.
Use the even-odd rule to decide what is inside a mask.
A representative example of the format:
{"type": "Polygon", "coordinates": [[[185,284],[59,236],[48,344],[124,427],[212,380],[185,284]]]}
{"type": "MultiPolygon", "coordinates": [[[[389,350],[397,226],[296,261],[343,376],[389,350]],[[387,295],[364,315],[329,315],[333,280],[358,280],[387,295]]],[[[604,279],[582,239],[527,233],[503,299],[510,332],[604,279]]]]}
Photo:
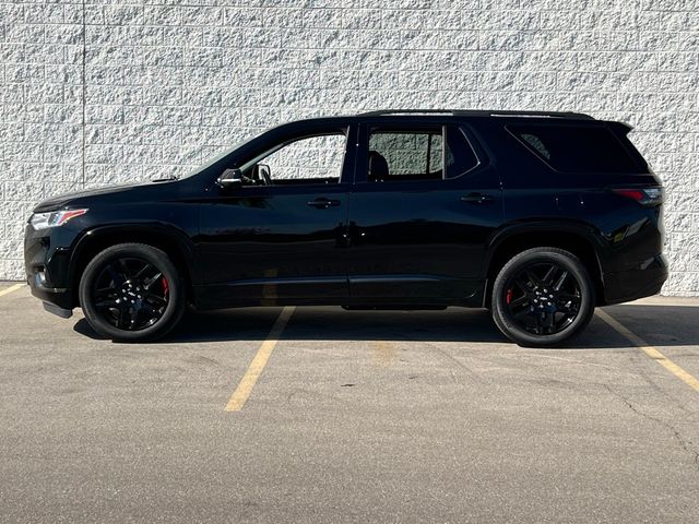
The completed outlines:
{"type": "Polygon", "coordinates": [[[167,334],[185,311],[185,282],[167,254],[144,243],[99,252],[80,279],[80,303],[90,325],[120,342],[167,334]]]}

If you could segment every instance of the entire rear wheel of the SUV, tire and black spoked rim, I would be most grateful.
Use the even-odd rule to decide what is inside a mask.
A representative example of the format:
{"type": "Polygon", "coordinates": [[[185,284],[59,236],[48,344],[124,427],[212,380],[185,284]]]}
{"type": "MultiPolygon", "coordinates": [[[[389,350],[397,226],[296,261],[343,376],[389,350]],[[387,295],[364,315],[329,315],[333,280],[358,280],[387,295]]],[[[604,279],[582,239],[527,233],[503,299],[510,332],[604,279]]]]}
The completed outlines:
{"type": "Polygon", "coordinates": [[[581,260],[542,247],[522,251],[502,266],[490,311],[502,334],[520,346],[550,347],[580,334],[594,305],[594,284],[581,260]]]}

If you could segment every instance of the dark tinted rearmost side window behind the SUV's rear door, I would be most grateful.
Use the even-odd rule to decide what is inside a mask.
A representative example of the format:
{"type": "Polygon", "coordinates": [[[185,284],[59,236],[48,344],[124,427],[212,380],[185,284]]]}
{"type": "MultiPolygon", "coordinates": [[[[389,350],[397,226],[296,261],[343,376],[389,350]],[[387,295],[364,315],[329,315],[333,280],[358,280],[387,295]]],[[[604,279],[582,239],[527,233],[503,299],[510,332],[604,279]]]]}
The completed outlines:
{"type": "MultiPolygon", "coordinates": [[[[531,153],[561,172],[643,172],[618,138],[605,127],[570,124],[508,126],[531,153]]],[[[629,147],[632,147],[629,144],[629,147]]]]}

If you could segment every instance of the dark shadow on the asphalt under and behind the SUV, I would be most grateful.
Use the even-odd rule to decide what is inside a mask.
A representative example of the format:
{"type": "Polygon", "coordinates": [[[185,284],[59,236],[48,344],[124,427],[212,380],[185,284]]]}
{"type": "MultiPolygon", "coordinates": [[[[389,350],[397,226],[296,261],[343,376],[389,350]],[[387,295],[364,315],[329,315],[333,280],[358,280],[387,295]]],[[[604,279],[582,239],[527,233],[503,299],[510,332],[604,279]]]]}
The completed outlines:
{"type": "MultiPolygon", "coordinates": [[[[621,305],[605,308],[627,329],[649,344],[699,345],[699,308],[621,305]]],[[[264,341],[280,308],[188,311],[180,324],[158,344],[225,341],[264,341]]],[[[74,331],[102,338],[81,319],[74,331]]],[[[289,341],[425,341],[508,343],[484,309],[449,308],[443,311],[345,311],[339,307],[298,307],[281,335],[289,341]]],[[[597,315],[562,349],[625,348],[631,343],[597,315]]]]}

